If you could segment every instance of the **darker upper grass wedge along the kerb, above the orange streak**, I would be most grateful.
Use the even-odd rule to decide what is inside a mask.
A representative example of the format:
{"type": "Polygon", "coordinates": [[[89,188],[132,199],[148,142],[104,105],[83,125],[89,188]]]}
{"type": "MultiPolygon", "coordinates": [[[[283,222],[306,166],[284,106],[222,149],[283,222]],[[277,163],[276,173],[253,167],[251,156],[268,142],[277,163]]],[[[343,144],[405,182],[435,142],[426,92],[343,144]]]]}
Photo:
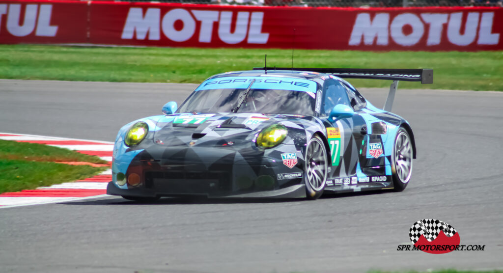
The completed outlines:
{"type": "Polygon", "coordinates": [[[0,140],[0,158],[28,161],[107,163],[98,156],[81,154],[68,149],[8,140],[0,140]]]}

